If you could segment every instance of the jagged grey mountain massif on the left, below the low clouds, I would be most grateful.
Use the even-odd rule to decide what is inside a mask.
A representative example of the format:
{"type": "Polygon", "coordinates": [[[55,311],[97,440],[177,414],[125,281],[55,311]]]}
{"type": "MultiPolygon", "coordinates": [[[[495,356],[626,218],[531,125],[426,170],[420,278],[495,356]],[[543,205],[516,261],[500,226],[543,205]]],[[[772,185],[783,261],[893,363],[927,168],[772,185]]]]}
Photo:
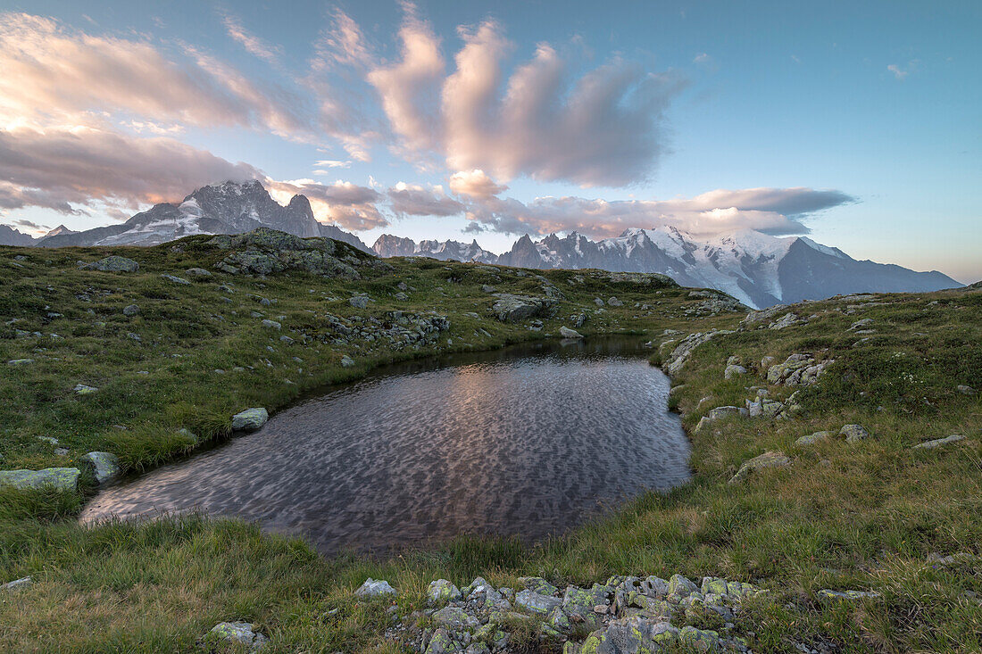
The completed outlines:
{"type": "Polygon", "coordinates": [[[180,204],[155,204],[119,225],[96,227],[83,232],[59,227],[39,240],[31,239],[29,243],[6,243],[0,226],[0,244],[43,247],[158,245],[194,234],[242,234],[257,227],[269,227],[304,238],[330,237],[366,252],[371,251],[354,234],[317,222],[310,202],[303,195],[294,195],[290,203],[283,206],[256,181],[244,184],[225,182],[202,187],[185,197],[180,204]]]}

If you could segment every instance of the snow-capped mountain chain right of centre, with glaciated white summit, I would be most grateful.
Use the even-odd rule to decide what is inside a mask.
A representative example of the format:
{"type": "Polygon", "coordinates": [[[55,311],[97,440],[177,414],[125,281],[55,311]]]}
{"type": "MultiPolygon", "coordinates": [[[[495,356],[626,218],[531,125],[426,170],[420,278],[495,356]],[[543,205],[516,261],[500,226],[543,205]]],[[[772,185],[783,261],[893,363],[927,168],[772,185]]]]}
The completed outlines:
{"type": "Polygon", "coordinates": [[[777,238],[742,230],[698,240],[672,227],[629,229],[620,237],[590,241],[581,234],[524,236],[500,256],[471,245],[442,244],[383,235],[379,256],[422,255],[476,260],[523,268],[600,268],[656,272],[683,286],[724,291],[745,304],[820,300],[850,293],[938,291],[961,286],[936,271],[914,272],[893,264],[857,261],[841,249],[800,237],[777,238]]]}

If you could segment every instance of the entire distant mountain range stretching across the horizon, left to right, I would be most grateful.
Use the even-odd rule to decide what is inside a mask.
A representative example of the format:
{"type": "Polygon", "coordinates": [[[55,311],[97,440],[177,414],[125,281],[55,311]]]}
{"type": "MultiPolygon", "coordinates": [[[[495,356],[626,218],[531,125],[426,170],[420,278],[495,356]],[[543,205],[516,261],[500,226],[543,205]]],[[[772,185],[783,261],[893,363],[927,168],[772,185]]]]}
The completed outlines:
{"type": "Polygon", "coordinates": [[[523,268],[600,268],[657,272],[683,286],[713,288],[754,307],[852,293],[929,292],[962,286],[937,271],[856,260],[804,237],[741,230],[698,239],[673,227],[628,229],[591,241],[573,232],[539,241],[523,236],[503,254],[476,241],[421,241],[384,234],[371,249],[354,234],[318,222],[303,195],[283,206],[256,181],[202,187],[180,203],[155,204],[125,223],[73,232],[59,226],[39,239],[0,225],[0,245],[157,245],[194,234],[240,234],[269,227],[300,237],[329,237],[380,257],[428,256],[523,268]]]}

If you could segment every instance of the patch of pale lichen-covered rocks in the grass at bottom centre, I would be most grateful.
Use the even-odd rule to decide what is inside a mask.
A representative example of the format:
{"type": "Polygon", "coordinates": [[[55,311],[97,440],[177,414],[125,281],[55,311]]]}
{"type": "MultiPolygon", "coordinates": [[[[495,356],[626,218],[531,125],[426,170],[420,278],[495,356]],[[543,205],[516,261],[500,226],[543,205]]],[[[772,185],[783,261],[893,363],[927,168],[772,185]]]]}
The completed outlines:
{"type": "MultiPolygon", "coordinates": [[[[566,654],[640,653],[694,648],[747,651],[736,616],[748,597],[766,591],[739,581],[705,576],[701,584],[682,574],[612,576],[590,587],[560,590],[540,577],[522,577],[521,590],[496,588],[477,577],[463,590],[433,581],[430,608],[397,619],[387,634],[425,654],[488,654],[541,645],[566,654]],[[710,618],[712,617],[712,618],[710,618]],[[720,630],[686,625],[713,620],[720,630]],[[524,635],[518,640],[518,631],[524,635]]],[[[375,582],[380,583],[380,582],[375,582]]],[[[674,651],[674,650],[673,650],[674,651]]],[[[687,651],[687,650],[686,650],[687,651]]]]}

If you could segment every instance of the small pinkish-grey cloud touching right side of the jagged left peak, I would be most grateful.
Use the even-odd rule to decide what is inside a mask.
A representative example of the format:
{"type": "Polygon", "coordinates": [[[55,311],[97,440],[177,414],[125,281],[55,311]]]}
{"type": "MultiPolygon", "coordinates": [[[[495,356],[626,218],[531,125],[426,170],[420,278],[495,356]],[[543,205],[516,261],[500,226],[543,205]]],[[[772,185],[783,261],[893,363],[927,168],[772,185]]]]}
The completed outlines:
{"type": "Polygon", "coordinates": [[[310,200],[314,217],[321,222],[336,223],[354,231],[389,224],[378,211],[376,203],[382,199],[382,195],[374,189],[341,180],[334,184],[321,184],[314,180],[280,182],[266,178],[263,183],[270,194],[282,203],[288,202],[297,193],[305,195],[310,200]]]}

